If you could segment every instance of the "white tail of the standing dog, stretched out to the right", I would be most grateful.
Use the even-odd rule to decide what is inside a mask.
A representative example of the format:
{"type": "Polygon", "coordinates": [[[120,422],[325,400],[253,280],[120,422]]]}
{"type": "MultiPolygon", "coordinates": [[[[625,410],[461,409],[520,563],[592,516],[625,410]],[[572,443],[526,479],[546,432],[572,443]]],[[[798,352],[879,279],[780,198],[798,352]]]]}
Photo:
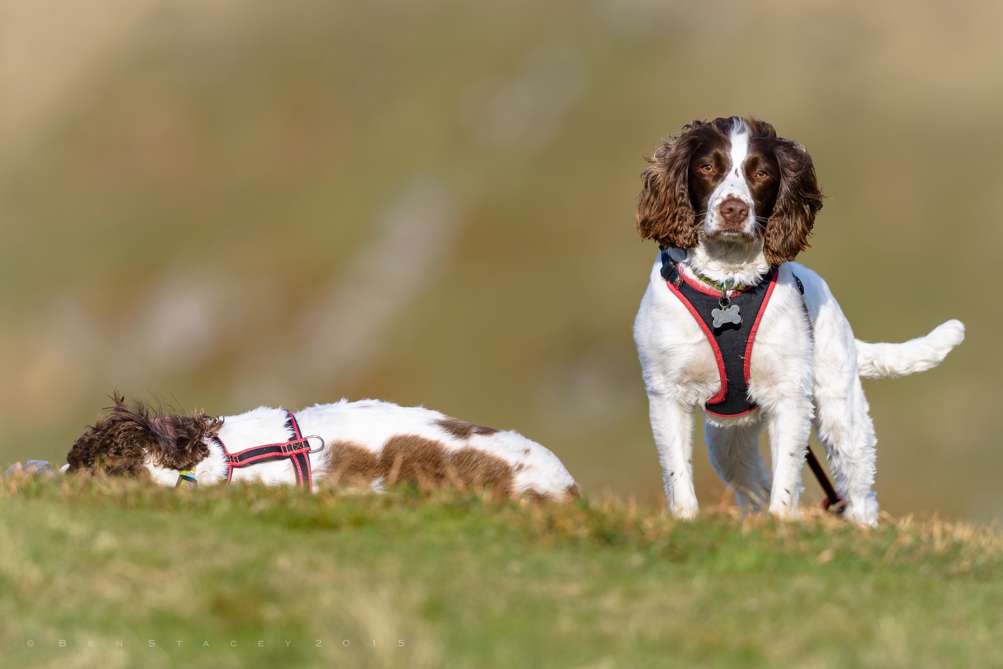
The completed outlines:
{"type": "Polygon", "coordinates": [[[866,378],[881,378],[925,372],[939,365],[964,339],[965,325],[956,320],[941,323],[927,336],[901,344],[869,344],[858,339],[860,374],[866,378]]]}

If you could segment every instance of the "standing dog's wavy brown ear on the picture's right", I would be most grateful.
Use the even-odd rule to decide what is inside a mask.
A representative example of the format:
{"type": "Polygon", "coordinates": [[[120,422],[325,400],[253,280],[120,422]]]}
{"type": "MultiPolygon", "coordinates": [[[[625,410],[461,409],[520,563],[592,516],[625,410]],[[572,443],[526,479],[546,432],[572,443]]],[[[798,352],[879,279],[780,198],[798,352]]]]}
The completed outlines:
{"type": "Polygon", "coordinates": [[[794,260],[808,248],[808,235],[821,209],[822,195],[804,146],[779,139],[775,154],[780,165],[780,186],[766,222],[763,252],[767,262],[779,265],[794,260]]]}

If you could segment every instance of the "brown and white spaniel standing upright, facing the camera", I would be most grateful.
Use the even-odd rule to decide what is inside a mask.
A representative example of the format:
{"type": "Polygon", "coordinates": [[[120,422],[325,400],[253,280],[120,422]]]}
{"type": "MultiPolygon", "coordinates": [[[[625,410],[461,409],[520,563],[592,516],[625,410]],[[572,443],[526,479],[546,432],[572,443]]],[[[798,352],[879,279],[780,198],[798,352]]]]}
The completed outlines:
{"type": "Polygon", "coordinates": [[[693,412],[743,509],[797,516],[812,418],[845,515],[875,525],[875,433],[861,376],[930,369],[961,343],[948,321],[903,344],[854,339],[828,286],[791,261],[821,191],[803,146],[752,118],[693,121],[650,159],[637,226],[663,251],[634,325],[669,509],[693,518],[693,412]],[[753,345],[754,342],[754,345],[753,345]],[[772,482],[759,454],[769,432],[772,482]]]}

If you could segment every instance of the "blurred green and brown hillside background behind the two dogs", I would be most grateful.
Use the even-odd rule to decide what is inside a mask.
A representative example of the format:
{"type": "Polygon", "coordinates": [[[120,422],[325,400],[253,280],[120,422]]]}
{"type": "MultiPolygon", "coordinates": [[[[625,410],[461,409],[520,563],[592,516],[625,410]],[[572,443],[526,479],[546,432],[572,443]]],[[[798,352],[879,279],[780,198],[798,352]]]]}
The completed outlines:
{"type": "Polygon", "coordinates": [[[968,327],[866,382],[879,500],[1003,516],[1001,27],[929,0],[2,0],[0,461],[62,461],[113,384],[378,397],[656,495],[638,176],[690,119],[754,114],[814,156],[800,260],[859,337],[968,327]]]}

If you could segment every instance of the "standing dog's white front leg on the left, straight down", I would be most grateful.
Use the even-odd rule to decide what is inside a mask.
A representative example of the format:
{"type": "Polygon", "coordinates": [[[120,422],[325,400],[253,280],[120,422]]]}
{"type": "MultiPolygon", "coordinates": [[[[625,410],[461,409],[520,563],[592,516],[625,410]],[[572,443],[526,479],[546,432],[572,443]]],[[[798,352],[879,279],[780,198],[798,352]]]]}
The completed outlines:
{"type": "Polygon", "coordinates": [[[669,511],[676,518],[694,519],[700,509],[693,488],[693,407],[674,397],[649,394],[648,408],[669,511]]]}

